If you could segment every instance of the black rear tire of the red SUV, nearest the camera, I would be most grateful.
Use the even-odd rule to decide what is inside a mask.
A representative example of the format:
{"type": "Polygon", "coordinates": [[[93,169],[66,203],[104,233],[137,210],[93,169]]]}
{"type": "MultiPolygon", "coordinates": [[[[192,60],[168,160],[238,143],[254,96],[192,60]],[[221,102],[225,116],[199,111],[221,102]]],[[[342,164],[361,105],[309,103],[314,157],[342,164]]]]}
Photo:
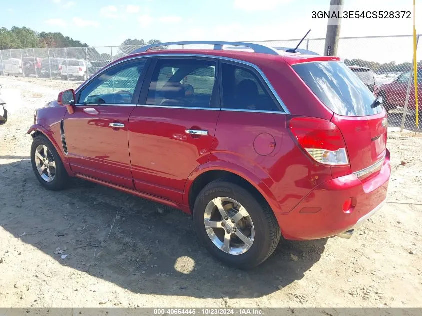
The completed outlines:
{"type": "Polygon", "coordinates": [[[225,264],[241,269],[253,268],[265,261],[273,253],[280,241],[280,227],[266,201],[264,201],[262,197],[252,195],[249,191],[240,185],[231,182],[230,179],[227,178],[212,181],[201,190],[195,201],[193,220],[198,238],[205,245],[207,250],[225,264]],[[224,228],[219,227],[220,225],[223,225],[221,224],[223,223],[222,216],[218,211],[218,208],[212,202],[213,200],[217,200],[218,202],[220,197],[223,197],[223,200],[226,200],[223,201],[223,206],[227,208],[225,211],[227,211],[228,221],[224,221],[224,228]],[[232,203],[227,199],[236,203],[232,203]],[[234,215],[236,214],[236,208],[241,210],[242,206],[246,210],[248,216],[242,217],[236,224],[231,224],[231,219],[235,219],[234,215]],[[213,211],[211,211],[211,217],[209,217],[212,221],[210,223],[216,226],[213,226],[215,228],[208,228],[207,230],[205,228],[204,217],[208,219],[208,215],[210,214],[209,210],[211,208],[213,208],[213,211]],[[247,222],[249,221],[253,223],[253,229],[248,227],[247,222]],[[242,228],[243,224],[244,228],[242,228]],[[226,234],[228,231],[231,231],[231,234],[226,234]],[[253,242],[248,249],[246,249],[246,242],[243,243],[243,251],[241,246],[236,247],[237,245],[242,244],[242,241],[238,238],[239,233],[247,236],[249,238],[248,242],[253,239],[253,242]],[[212,237],[210,237],[209,234],[211,234],[212,237]],[[231,239],[229,239],[229,245],[231,245],[231,247],[228,248],[229,252],[222,250],[224,245],[222,245],[221,248],[216,245],[216,243],[223,244],[224,238],[227,235],[231,236],[231,239]],[[218,240],[216,240],[215,237],[217,237],[218,240]],[[214,238],[214,241],[211,238],[214,238]],[[236,254],[236,252],[238,253],[236,254]]]}

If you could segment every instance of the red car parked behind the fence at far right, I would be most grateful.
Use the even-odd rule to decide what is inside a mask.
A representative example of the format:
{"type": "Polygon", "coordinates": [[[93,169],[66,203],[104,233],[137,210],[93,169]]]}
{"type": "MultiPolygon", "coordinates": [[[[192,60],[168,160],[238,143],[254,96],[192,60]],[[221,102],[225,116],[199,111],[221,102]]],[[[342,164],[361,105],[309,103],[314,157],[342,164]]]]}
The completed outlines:
{"type": "MultiPolygon", "coordinates": [[[[422,113],[422,66],[417,68],[418,75],[418,111],[422,113]]],[[[383,104],[387,110],[400,110],[403,112],[405,108],[406,93],[409,84],[410,71],[403,72],[394,81],[385,83],[377,87],[374,91],[376,96],[381,96],[384,100],[383,104]]],[[[415,114],[415,88],[413,85],[409,93],[409,101],[406,112],[408,114],[415,114]]]]}

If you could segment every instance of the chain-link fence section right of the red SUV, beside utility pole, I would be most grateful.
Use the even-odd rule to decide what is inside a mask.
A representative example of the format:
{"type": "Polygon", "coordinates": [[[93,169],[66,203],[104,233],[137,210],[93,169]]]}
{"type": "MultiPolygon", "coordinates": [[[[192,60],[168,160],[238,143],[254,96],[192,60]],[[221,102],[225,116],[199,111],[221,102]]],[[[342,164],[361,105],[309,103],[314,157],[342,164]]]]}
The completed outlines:
{"type": "MultiPolygon", "coordinates": [[[[419,36],[417,35],[418,39],[419,36]]],[[[340,38],[337,55],[343,58],[376,96],[383,98],[390,126],[422,130],[421,119],[418,120],[418,126],[416,125],[412,41],[412,35],[340,38]]],[[[299,39],[256,41],[272,47],[287,48],[294,48],[298,42],[299,39]]],[[[305,39],[299,48],[323,55],[324,44],[325,38],[305,39]]],[[[421,49],[417,49],[416,60],[418,61],[418,114],[421,117],[421,49]]]]}

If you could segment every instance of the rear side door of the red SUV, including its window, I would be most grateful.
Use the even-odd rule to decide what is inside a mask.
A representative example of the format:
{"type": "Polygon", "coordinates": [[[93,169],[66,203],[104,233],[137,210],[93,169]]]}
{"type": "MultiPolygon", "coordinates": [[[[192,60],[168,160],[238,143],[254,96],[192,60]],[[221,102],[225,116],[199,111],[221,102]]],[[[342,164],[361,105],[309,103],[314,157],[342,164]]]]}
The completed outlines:
{"type": "Polygon", "coordinates": [[[209,159],[220,114],[217,62],[161,57],[129,119],[137,190],[182,202],[186,179],[209,159]]]}

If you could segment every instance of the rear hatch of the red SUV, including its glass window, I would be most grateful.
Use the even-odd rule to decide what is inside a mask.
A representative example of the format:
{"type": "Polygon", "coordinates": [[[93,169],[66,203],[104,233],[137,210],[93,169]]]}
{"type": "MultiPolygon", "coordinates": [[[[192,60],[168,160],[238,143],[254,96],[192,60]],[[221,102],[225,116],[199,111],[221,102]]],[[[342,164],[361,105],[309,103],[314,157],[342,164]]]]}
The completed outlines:
{"type": "MultiPolygon", "coordinates": [[[[381,167],[386,153],[387,114],[375,96],[343,63],[320,61],[292,66],[306,85],[331,111],[341,131],[352,172],[381,167]]],[[[369,170],[368,170],[369,171],[369,170]]],[[[363,177],[369,175],[363,173],[363,177]]]]}

